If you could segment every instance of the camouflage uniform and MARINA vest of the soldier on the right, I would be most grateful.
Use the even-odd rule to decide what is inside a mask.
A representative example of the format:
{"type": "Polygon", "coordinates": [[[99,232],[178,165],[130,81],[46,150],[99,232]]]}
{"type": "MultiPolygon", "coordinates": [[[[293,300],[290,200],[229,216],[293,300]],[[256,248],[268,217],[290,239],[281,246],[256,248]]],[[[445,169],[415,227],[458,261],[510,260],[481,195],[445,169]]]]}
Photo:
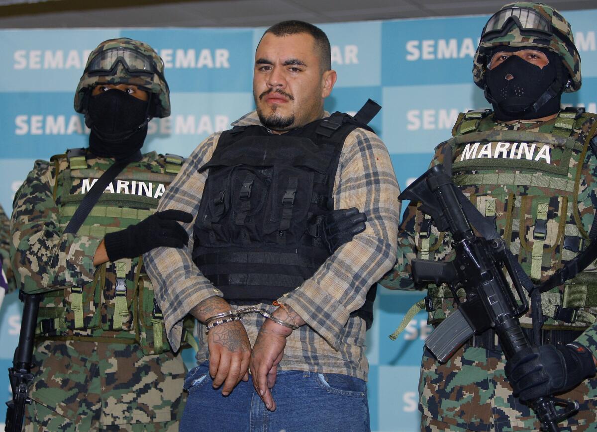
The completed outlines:
{"type": "MultiPolygon", "coordinates": [[[[555,11],[553,17],[559,21],[561,16],[555,11]]],[[[516,27],[513,33],[503,38],[518,40],[514,46],[536,46],[516,27]]],[[[510,45],[501,39],[492,42],[510,45]]],[[[568,89],[576,90],[580,87],[580,60],[562,54],[560,48],[552,41],[550,49],[557,50],[567,67],[568,61],[573,66],[568,67],[572,74],[568,89]]],[[[473,69],[477,83],[482,82],[486,64],[479,60],[479,53],[473,69]]],[[[597,116],[577,115],[572,110],[546,122],[513,124],[504,124],[488,112],[470,112],[458,118],[454,138],[436,147],[431,165],[452,156],[454,183],[482,215],[494,218],[506,245],[533,282],[539,283],[588,243],[597,206],[597,157],[589,146],[596,131],[597,116]],[[541,227],[546,227],[544,233],[541,227]]],[[[453,259],[450,234],[439,232],[429,216],[418,211],[416,203],[405,212],[398,243],[402,254],[398,253],[395,269],[381,281],[386,288],[417,289],[411,279],[413,258],[453,259]]],[[[592,294],[596,288],[597,268],[593,264],[541,295],[543,313],[548,317],[544,335],[555,337],[559,331],[567,331],[573,338],[578,335],[577,342],[597,357],[597,299],[592,294]]],[[[433,303],[428,308],[432,309],[429,323],[435,326],[454,310],[454,300],[445,285],[429,284],[427,290],[433,303]]],[[[464,292],[457,295],[464,300],[464,292]]],[[[532,328],[530,313],[521,317],[521,325],[532,328]]],[[[421,430],[539,430],[533,411],[512,395],[504,372],[506,359],[497,341],[479,343],[481,340],[466,342],[444,365],[425,350],[419,384],[421,430]]],[[[562,431],[597,430],[597,378],[586,379],[558,397],[580,403],[580,412],[559,424],[562,431]]]]}

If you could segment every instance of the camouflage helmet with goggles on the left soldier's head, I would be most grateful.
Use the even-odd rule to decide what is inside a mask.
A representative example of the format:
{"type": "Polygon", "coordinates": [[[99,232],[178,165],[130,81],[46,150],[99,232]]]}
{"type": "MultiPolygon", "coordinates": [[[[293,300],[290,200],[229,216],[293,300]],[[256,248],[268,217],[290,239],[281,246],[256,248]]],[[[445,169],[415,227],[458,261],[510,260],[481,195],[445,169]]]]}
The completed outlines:
{"type": "Polygon", "coordinates": [[[75,92],[75,111],[87,113],[91,90],[100,84],[133,84],[153,93],[152,117],[170,115],[164,61],[152,47],[129,38],[108,39],[91,51],[75,92]]]}

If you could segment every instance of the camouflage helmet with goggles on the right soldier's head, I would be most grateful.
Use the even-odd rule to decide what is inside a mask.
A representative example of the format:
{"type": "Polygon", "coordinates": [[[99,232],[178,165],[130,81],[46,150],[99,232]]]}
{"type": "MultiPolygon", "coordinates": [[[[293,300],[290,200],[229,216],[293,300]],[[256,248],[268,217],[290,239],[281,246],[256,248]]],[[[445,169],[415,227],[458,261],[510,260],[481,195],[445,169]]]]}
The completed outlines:
{"type": "Polygon", "coordinates": [[[485,24],[473,60],[475,84],[485,88],[485,68],[494,47],[546,48],[557,54],[568,70],[570,81],[564,91],[580,89],[580,55],[568,21],[554,8],[542,3],[516,2],[504,5],[485,24]]]}

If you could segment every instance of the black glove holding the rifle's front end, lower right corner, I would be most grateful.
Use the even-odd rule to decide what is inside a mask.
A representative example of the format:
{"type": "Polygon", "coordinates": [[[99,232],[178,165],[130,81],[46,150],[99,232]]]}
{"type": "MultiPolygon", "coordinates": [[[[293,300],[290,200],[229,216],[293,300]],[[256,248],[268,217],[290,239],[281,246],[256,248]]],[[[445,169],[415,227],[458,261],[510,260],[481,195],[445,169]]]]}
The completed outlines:
{"type": "Polygon", "coordinates": [[[593,354],[577,342],[528,347],[506,362],[514,396],[523,402],[570,390],[594,374],[593,354]]]}

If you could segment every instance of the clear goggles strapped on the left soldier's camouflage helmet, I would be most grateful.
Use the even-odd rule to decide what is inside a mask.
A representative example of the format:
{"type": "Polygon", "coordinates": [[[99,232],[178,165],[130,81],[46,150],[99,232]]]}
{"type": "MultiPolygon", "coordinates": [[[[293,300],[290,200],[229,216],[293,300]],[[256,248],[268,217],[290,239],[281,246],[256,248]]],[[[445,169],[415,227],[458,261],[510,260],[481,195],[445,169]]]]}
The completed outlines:
{"type": "Polygon", "coordinates": [[[113,75],[118,68],[118,63],[121,63],[131,75],[153,75],[154,73],[162,75],[153,63],[152,57],[123,47],[101,51],[90,61],[85,68],[85,73],[113,75]]]}

